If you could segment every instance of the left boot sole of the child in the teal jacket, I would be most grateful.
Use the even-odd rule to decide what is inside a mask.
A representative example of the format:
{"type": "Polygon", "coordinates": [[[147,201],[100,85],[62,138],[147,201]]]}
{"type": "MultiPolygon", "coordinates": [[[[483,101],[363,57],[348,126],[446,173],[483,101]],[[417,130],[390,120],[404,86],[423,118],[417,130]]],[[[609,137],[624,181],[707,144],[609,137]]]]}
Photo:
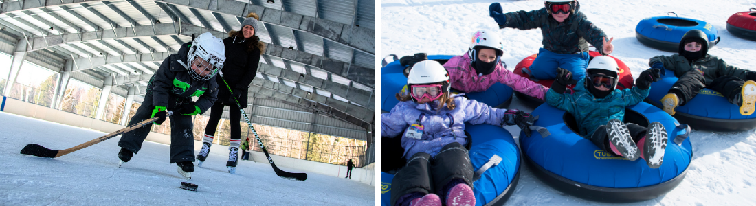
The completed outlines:
{"type": "Polygon", "coordinates": [[[618,155],[622,155],[630,161],[638,159],[640,155],[638,152],[638,146],[635,145],[633,138],[630,137],[630,131],[627,130],[627,125],[624,125],[622,121],[612,119],[609,120],[607,126],[606,134],[609,135],[609,144],[610,146],[616,147],[619,152],[618,155]]]}

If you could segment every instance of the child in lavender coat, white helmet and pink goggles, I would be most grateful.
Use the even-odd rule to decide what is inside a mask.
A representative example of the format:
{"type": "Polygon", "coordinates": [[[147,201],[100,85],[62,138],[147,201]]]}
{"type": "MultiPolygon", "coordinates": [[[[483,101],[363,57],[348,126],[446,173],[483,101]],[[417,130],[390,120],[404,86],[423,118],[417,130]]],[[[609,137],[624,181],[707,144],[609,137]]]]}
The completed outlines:
{"type": "Polygon", "coordinates": [[[463,146],[465,122],[518,125],[526,135],[534,118],[516,109],[494,109],[449,93],[446,69],[421,61],[410,70],[409,90],[382,115],[383,136],[401,135],[407,164],[392,180],[391,205],[475,205],[472,163],[463,146]]]}

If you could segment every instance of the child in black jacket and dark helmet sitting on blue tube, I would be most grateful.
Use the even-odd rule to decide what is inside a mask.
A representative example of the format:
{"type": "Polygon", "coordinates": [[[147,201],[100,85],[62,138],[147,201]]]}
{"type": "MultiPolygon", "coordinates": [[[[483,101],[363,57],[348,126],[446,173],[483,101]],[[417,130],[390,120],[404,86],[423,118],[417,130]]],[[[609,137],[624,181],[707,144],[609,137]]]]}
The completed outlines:
{"type": "Polygon", "coordinates": [[[730,103],[740,106],[741,115],[754,113],[756,103],[756,72],[730,66],[717,56],[708,54],[708,38],[699,29],[692,29],[680,40],[678,54],[659,55],[649,60],[655,69],[674,71],[679,79],[662,97],[664,111],[674,115],[703,88],[721,93],[730,103]]]}

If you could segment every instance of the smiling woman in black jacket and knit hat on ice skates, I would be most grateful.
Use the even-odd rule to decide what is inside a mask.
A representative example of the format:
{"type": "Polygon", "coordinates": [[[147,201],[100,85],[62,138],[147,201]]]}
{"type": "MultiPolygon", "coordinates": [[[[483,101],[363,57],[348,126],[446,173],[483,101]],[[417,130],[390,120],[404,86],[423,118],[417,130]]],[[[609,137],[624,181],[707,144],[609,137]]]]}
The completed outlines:
{"type": "Polygon", "coordinates": [[[257,65],[260,63],[260,54],[265,51],[265,45],[260,42],[260,38],[255,35],[257,31],[257,21],[259,17],[255,13],[249,13],[241,24],[240,31],[228,32],[228,38],[223,39],[226,46],[226,64],[221,69],[223,78],[218,77],[218,100],[212,105],[210,119],[205,128],[205,137],[203,137],[202,149],[197,155],[199,166],[207,158],[210,152],[212,139],[215,136],[215,129],[218,127],[218,121],[223,114],[223,107],[228,106],[229,121],[231,122],[231,144],[228,147],[228,172],[233,174],[236,171],[237,159],[239,156],[239,144],[241,139],[241,130],[239,121],[241,112],[237,107],[236,100],[242,108],[246,108],[247,89],[249,83],[255,78],[257,65]],[[223,81],[228,82],[231,92],[225,86],[223,81]],[[236,100],[234,100],[234,98],[236,100]]]}

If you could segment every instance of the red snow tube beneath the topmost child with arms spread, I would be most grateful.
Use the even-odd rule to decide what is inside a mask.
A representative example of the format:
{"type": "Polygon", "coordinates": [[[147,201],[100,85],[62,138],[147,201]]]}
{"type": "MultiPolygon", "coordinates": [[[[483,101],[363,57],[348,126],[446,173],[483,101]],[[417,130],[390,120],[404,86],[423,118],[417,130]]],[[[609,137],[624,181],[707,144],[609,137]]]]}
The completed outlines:
{"type": "MultiPolygon", "coordinates": [[[[596,57],[601,55],[598,51],[590,51],[588,52],[590,57],[596,57]]],[[[538,54],[533,54],[528,57],[525,57],[522,61],[517,63],[515,66],[515,74],[521,75],[525,78],[530,78],[530,75],[522,73],[522,68],[528,67],[531,64],[533,64],[533,60],[535,60],[535,57],[537,57],[538,54]]],[[[609,55],[609,57],[612,57],[609,55]]],[[[619,66],[619,82],[617,83],[617,88],[624,89],[624,88],[632,88],[635,84],[633,83],[633,74],[631,74],[630,68],[627,67],[627,65],[622,62],[622,60],[617,59],[616,57],[612,57],[615,60],[617,60],[617,65],[619,66]]],[[[531,78],[531,80],[535,81],[538,84],[544,85],[547,88],[551,87],[551,83],[554,82],[553,79],[534,79],[531,78]]],[[[574,85],[569,86],[569,88],[574,88],[574,85]]],[[[528,95],[519,93],[515,91],[515,96],[519,99],[525,102],[526,106],[529,106],[530,108],[536,108],[540,106],[542,103],[545,103],[544,100],[539,100],[535,97],[530,97],[528,95]]]]}

